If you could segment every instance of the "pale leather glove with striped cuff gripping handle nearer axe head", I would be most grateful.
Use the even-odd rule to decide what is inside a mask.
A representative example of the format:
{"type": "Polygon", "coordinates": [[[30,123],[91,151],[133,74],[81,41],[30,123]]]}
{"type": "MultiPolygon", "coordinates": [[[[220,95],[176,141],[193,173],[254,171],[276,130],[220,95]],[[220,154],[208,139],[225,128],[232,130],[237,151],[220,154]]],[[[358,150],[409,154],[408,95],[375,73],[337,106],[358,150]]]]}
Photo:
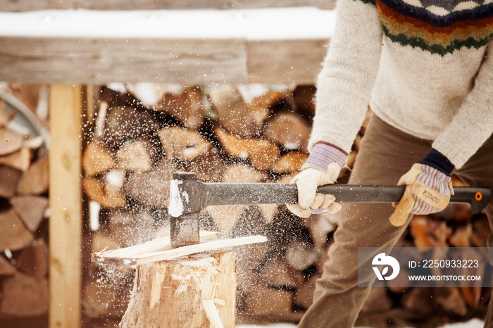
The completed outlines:
{"type": "Polygon", "coordinates": [[[316,194],[317,187],[333,184],[347,159],[347,154],[334,146],[318,143],[308,156],[301,172],[291,183],[297,185],[298,203],[286,204],[287,208],[299,217],[309,217],[318,213],[337,213],[341,209],[335,203],[334,195],[316,194]]]}

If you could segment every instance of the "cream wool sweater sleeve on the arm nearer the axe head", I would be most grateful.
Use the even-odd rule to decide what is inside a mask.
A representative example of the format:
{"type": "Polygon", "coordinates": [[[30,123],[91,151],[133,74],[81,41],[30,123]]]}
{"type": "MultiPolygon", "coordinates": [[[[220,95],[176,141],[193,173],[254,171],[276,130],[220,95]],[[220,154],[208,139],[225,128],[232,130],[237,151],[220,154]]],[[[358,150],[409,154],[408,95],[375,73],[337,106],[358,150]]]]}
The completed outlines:
{"type": "Polygon", "coordinates": [[[337,0],[335,32],[316,81],[316,114],[308,149],[324,141],[351,151],[375,83],[382,34],[371,0],[337,0]]]}

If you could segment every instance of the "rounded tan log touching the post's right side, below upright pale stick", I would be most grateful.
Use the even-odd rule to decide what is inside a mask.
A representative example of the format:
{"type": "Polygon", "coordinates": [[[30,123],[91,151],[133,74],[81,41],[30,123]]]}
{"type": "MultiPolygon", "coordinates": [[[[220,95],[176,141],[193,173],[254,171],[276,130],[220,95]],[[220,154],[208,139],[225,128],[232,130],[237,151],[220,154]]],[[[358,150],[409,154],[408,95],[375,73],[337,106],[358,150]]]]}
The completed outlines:
{"type": "Polygon", "coordinates": [[[92,140],[82,155],[82,167],[87,177],[94,177],[115,166],[113,153],[101,141],[92,140]]]}

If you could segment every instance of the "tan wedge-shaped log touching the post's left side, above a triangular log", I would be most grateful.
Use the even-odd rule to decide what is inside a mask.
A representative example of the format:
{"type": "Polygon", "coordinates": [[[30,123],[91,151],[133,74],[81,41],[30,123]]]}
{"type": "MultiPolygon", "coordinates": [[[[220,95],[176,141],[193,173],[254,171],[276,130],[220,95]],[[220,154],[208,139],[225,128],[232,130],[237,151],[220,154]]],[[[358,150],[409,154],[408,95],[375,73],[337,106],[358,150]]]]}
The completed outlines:
{"type": "Polygon", "coordinates": [[[40,195],[48,192],[48,157],[43,156],[20,177],[17,192],[20,195],[40,195]]]}

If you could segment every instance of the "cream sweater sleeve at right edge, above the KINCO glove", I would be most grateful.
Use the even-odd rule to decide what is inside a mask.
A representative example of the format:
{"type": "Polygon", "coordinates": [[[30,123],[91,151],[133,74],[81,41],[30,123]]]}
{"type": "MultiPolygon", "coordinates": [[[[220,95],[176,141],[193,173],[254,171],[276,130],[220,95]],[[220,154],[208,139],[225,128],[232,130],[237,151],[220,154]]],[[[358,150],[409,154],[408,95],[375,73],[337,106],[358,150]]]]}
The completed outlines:
{"type": "Polygon", "coordinates": [[[487,44],[474,87],[449,126],[432,144],[461,168],[493,133],[493,38],[487,44]]]}

